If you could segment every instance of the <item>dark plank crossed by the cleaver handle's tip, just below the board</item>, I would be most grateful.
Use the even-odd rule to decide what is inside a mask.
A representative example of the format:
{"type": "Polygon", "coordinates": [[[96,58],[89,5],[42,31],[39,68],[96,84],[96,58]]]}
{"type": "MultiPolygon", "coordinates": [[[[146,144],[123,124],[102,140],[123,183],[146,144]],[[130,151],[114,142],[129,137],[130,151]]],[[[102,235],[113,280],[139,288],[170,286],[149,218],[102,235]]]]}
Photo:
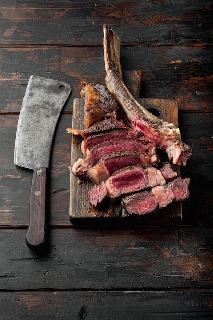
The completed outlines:
{"type": "Polygon", "coordinates": [[[210,228],[59,228],[50,251],[31,252],[26,230],[1,230],[0,290],[212,289],[210,228]]]}

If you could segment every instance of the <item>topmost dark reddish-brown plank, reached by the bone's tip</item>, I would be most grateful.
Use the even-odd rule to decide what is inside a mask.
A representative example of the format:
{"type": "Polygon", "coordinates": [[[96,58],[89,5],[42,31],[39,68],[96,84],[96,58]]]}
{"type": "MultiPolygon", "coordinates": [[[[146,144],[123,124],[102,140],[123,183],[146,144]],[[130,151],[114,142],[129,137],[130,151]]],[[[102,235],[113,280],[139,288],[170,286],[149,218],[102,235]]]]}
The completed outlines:
{"type": "Polygon", "coordinates": [[[123,44],[211,43],[211,1],[1,2],[2,45],[102,45],[108,24],[123,44]],[[15,12],[15,14],[14,14],[15,12]]]}

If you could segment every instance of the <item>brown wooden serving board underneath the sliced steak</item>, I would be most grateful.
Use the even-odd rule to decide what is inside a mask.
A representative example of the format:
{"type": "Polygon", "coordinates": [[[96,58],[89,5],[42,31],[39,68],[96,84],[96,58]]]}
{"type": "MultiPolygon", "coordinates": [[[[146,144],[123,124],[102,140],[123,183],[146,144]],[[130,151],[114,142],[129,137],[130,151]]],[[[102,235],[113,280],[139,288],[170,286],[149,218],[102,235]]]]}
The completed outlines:
{"type": "MultiPolygon", "coordinates": [[[[129,81],[132,83],[129,86],[131,92],[134,92],[136,97],[139,93],[137,88],[140,85],[140,76],[138,76],[138,71],[132,71],[127,73],[129,81]],[[136,75],[136,78],[135,78],[136,75]],[[134,76],[134,77],[133,77],[134,76]],[[132,79],[132,80],[131,80],[132,79]],[[135,83],[138,84],[135,86],[135,83]]],[[[125,78],[124,78],[125,79],[125,78]]],[[[126,81],[127,83],[127,81],[126,81]]],[[[159,116],[159,118],[164,119],[165,121],[172,122],[175,126],[178,126],[178,106],[175,100],[168,99],[148,99],[140,98],[138,99],[139,103],[143,105],[150,112],[154,110],[154,113],[159,116]]],[[[83,98],[74,99],[73,105],[73,123],[72,127],[76,129],[84,129],[83,126],[84,120],[84,100],[83,98]]],[[[71,164],[73,164],[79,157],[84,157],[81,152],[81,136],[75,136],[72,134],[72,143],[71,143],[71,164]]],[[[162,153],[162,152],[161,152],[162,153]]],[[[160,160],[168,160],[164,153],[159,155],[160,160]]],[[[173,170],[180,175],[180,168],[177,165],[172,165],[173,170]]],[[[119,204],[110,205],[109,208],[106,208],[102,211],[93,208],[88,201],[88,191],[93,186],[92,182],[82,182],[79,183],[79,179],[71,174],[70,176],[70,221],[72,223],[79,223],[80,220],[86,219],[87,223],[89,221],[94,221],[96,218],[97,221],[102,221],[105,218],[104,222],[110,220],[119,221],[119,223],[139,223],[142,225],[170,225],[170,224],[179,224],[181,222],[182,216],[182,206],[181,203],[174,203],[169,205],[167,208],[160,209],[155,214],[148,214],[141,217],[128,216],[119,204]],[[108,218],[108,219],[106,219],[108,218]],[[117,219],[116,219],[117,218],[117,219]]],[[[82,221],[81,221],[82,222],[82,221]]]]}

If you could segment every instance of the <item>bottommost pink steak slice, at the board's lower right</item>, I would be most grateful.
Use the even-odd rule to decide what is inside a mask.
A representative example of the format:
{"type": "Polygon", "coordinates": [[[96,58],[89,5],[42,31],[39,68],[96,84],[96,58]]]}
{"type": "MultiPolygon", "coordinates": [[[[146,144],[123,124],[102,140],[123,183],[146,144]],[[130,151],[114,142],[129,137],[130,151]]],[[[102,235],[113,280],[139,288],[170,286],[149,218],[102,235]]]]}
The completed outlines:
{"type": "Polygon", "coordinates": [[[188,198],[190,179],[177,178],[164,186],[153,187],[149,191],[139,192],[122,199],[122,206],[128,214],[144,215],[164,208],[174,201],[188,198]]]}

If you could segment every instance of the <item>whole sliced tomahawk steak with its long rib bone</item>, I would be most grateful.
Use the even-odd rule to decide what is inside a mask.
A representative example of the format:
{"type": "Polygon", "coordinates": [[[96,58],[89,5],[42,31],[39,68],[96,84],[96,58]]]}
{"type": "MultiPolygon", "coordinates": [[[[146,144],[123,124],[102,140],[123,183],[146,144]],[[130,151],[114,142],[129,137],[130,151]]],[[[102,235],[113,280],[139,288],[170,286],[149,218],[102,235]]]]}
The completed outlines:
{"type": "Polygon", "coordinates": [[[152,115],[133,98],[122,79],[120,40],[106,25],[103,29],[109,91],[99,84],[81,83],[86,129],[67,131],[84,138],[85,158],[70,170],[94,182],[88,194],[94,207],[129,194],[122,206],[129,214],[144,215],[188,197],[190,179],[176,178],[169,163],[159,168],[156,148],[178,165],[185,165],[192,151],[174,124],[152,115]],[[171,182],[166,185],[166,181],[171,182]]]}

